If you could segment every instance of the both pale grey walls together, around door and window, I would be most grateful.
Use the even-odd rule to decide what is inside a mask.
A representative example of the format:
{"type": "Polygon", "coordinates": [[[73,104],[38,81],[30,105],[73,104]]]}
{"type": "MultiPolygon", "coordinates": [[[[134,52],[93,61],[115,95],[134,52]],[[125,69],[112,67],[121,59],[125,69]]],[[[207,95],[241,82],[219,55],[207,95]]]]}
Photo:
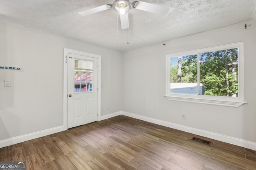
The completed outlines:
{"type": "Polygon", "coordinates": [[[256,146],[256,79],[252,77],[256,21],[244,23],[167,41],[166,47],[161,42],[120,53],[0,22],[0,65],[22,68],[0,70],[0,144],[63,125],[63,48],[68,48],[102,56],[101,115],[105,118],[111,113],[134,113],[256,146]],[[244,23],[250,26],[244,29],[244,23]],[[164,97],[166,54],[238,41],[244,41],[244,98],[248,104],[234,108],[164,97]],[[11,80],[12,86],[4,87],[4,79],[11,80]]]}

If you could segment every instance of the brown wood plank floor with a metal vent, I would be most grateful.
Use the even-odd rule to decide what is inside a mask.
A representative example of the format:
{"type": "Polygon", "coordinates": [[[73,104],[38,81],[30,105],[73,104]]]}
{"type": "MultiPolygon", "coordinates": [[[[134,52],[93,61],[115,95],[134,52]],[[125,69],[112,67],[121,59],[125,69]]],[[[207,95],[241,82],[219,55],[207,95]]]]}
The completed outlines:
{"type": "Polygon", "coordinates": [[[0,161],[26,161],[26,170],[255,170],[256,152],[120,115],[1,148],[0,161]]]}

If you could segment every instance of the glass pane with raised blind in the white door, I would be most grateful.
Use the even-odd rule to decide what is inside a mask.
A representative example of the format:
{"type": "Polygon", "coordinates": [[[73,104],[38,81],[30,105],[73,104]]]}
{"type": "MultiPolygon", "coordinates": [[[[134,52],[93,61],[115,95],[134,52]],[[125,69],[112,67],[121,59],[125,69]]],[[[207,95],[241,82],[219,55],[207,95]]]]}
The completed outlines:
{"type": "Polygon", "coordinates": [[[74,92],[92,92],[93,62],[75,60],[74,92]]]}

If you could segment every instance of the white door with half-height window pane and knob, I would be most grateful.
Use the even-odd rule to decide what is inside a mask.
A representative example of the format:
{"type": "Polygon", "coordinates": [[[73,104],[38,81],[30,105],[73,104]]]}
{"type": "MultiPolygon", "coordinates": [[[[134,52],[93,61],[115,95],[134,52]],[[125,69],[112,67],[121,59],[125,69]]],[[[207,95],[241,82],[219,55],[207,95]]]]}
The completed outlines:
{"type": "Polygon", "coordinates": [[[68,54],[68,128],[97,121],[98,59],[68,54]]]}

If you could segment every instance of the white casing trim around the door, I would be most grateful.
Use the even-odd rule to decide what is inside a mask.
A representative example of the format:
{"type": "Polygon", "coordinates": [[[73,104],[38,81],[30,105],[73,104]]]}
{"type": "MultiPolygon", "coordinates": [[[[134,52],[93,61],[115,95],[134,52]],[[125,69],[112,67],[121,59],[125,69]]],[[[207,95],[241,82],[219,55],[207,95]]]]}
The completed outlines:
{"type": "Polygon", "coordinates": [[[76,51],[72,49],[64,48],[63,56],[63,130],[68,129],[68,54],[82,55],[86,57],[92,57],[98,59],[98,117],[97,121],[100,121],[100,101],[101,101],[101,55],[96,55],[92,53],[86,53],[83,51],[76,51]]]}

